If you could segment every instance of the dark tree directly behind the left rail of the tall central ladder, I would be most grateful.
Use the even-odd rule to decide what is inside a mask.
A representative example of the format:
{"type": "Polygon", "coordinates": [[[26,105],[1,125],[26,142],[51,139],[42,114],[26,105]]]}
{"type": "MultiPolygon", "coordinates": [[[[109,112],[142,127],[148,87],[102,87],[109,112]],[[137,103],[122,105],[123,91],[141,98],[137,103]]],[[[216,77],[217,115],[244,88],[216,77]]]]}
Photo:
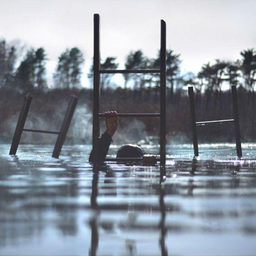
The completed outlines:
{"type": "MultiPolygon", "coordinates": [[[[100,69],[104,70],[114,70],[118,68],[118,63],[115,62],[116,57],[107,57],[106,60],[100,64],[100,69]]],[[[110,86],[111,78],[114,74],[101,74],[100,76],[100,89],[103,90],[106,87],[110,86]]],[[[93,85],[93,62],[90,66],[90,71],[87,74],[88,79],[90,80],[90,83],[93,85]]]]}

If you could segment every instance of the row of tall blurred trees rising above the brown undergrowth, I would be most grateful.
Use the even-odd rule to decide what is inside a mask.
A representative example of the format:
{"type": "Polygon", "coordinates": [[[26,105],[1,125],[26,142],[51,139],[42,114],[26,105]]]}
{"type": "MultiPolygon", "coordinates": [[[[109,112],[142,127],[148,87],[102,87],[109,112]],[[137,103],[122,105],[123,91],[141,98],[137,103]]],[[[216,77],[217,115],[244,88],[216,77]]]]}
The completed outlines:
{"type": "MultiPolygon", "coordinates": [[[[20,53],[19,53],[20,54],[20,53]]],[[[47,54],[43,47],[27,50],[23,59],[18,63],[20,56],[16,46],[5,40],[0,41],[0,88],[11,88],[20,93],[38,90],[44,92],[49,89],[46,80],[47,54]]],[[[184,86],[194,86],[196,94],[202,92],[215,95],[221,101],[224,84],[243,87],[248,92],[253,92],[256,83],[256,52],[254,49],[242,50],[241,58],[236,61],[215,60],[214,64],[204,64],[194,74],[180,72],[180,54],[175,54],[172,49],[166,51],[166,85],[172,97],[184,86]]],[[[81,88],[82,65],[84,57],[77,47],[66,49],[58,57],[58,63],[53,74],[54,84],[51,88],[81,88]]],[[[108,56],[102,61],[102,69],[117,69],[119,63],[116,57],[108,56]]],[[[158,69],[160,68],[160,51],[156,58],[148,58],[142,50],[131,51],[126,56],[125,69],[158,69]]],[[[114,74],[102,74],[101,90],[109,87],[118,87],[112,82],[114,74]]],[[[93,64],[87,74],[90,83],[93,83],[93,64]]],[[[157,90],[160,86],[158,74],[123,74],[124,89],[138,90],[141,95],[143,90],[157,90]]]]}

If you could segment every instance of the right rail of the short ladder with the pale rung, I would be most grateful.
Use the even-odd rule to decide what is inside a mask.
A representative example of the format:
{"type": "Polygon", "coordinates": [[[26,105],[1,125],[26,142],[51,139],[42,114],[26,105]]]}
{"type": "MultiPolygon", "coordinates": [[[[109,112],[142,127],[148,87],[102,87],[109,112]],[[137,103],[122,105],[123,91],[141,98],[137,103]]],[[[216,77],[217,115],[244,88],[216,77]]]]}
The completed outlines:
{"type": "Polygon", "coordinates": [[[241,147],[238,104],[237,104],[236,86],[235,85],[231,86],[231,92],[232,92],[234,124],[235,124],[235,134],[236,134],[236,154],[238,157],[241,157],[242,156],[242,147],[241,147]]]}

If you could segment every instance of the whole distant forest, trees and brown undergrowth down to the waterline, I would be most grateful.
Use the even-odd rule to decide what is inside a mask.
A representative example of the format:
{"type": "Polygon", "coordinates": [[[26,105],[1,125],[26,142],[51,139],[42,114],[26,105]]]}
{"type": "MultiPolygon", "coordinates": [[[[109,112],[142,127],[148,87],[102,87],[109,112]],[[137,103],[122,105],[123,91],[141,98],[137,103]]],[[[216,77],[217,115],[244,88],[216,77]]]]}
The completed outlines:
{"type": "MultiPolygon", "coordinates": [[[[232,118],[231,85],[238,89],[238,107],[242,142],[256,140],[255,128],[255,84],[256,52],[242,50],[240,59],[225,61],[216,59],[206,63],[198,74],[181,74],[181,55],[172,49],[166,52],[166,96],[168,142],[191,142],[190,112],[187,87],[194,86],[197,120],[232,118]]],[[[53,85],[46,80],[47,53],[44,48],[22,51],[15,44],[0,41],[0,142],[12,139],[16,120],[22,104],[22,95],[32,93],[34,99],[28,115],[30,127],[55,126],[59,128],[68,98],[76,94],[79,98],[78,113],[72,121],[67,138],[70,143],[90,143],[92,112],[92,64],[87,74],[88,88],[81,86],[82,65],[85,60],[79,48],[66,49],[58,57],[53,74],[53,85]],[[23,59],[20,60],[21,56],[23,59]],[[38,122],[38,117],[41,117],[38,122]],[[77,122],[77,123],[76,123],[77,122]],[[83,126],[80,128],[80,126],[83,126]],[[72,130],[73,129],[73,130],[72,130]],[[81,133],[80,130],[87,130],[81,133]]],[[[90,60],[92,62],[92,60],[90,60]]],[[[117,69],[116,57],[102,60],[102,69],[117,69]]],[[[131,51],[124,63],[125,69],[160,68],[160,52],[156,58],[148,58],[142,50],[131,51]]],[[[116,85],[113,74],[101,75],[101,110],[117,110],[123,113],[158,112],[160,109],[160,77],[158,74],[123,74],[124,86],[116,85]]],[[[159,122],[152,118],[120,121],[120,132],[116,143],[133,142],[143,137],[158,134],[159,122]],[[127,128],[129,127],[129,129],[127,128]],[[128,129],[128,130],[127,130],[128,129]],[[128,136],[131,133],[132,136],[128,136]]],[[[230,124],[212,124],[198,128],[199,142],[234,142],[234,128],[230,124]]],[[[38,141],[38,135],[24,136],[23,142],[38,141]],[[30,141],[26,141],[29,139],[30,141]],[[32,140],[32,141],[31,141],[32,140]]],[[[41,136],[41,135],[40,135],[41,136]]],[[[44,135],[40,143],[51,143],[44,135]]],[[[53,142],[54,143],[54,140],[53,142]]]]}

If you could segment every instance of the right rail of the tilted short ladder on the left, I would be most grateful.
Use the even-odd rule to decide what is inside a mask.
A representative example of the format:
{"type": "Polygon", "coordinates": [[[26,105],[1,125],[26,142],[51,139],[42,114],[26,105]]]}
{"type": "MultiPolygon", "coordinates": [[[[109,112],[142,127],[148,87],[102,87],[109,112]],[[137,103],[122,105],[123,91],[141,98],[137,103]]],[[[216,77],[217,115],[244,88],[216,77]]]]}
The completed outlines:
{"type": "Polygon", "coordinates": [[[52,157],[54,158],[58,158],[60,156],[60,151],[62,149],[62,146],[64,144],[67,132],[68,132],[68,128],[70,126],[70,122],[72,119],[72,116],[74,114],[74,111],[76,109],[76,104],[77,104],[78,98],[74,95],[71,96],[70,98],[70,102],[68,104],[68,108],[66,111],[66,114],[64,116],[64,119],[62,121],[62,125],[60,128],[60,133],[58,135],[58,138],[56,140],[55,146],[54,146],[54,150],[52,152],[52,157]]]}

